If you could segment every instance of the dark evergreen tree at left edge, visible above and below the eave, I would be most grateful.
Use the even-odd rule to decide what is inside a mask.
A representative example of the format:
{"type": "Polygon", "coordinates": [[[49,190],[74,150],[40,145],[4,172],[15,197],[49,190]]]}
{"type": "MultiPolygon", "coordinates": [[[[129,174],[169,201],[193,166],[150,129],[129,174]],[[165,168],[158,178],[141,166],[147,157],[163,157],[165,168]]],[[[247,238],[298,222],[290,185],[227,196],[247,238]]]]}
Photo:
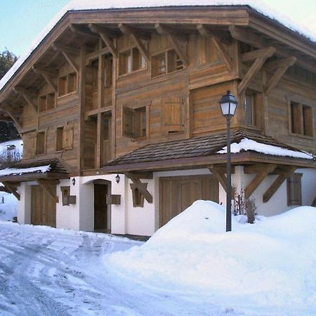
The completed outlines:
{"type": "MultiPolygon", "coordinates": [[[[17,59],[8,49],[2,53],[0,52],[0,79],[4,77],[17,59]]],[[[10,121],[0,121],[0,143],[17,138],[20,138],[20,136],[14,124],[10,121]]]]}

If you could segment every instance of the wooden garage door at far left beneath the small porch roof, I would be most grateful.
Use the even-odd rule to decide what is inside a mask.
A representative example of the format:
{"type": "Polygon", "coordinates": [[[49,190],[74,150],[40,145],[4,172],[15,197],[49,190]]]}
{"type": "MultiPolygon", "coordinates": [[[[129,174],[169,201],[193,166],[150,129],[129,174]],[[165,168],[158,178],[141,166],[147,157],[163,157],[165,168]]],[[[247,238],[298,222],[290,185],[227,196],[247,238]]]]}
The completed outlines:
{"type": "Polygon", "coordinates": [[[55,199],[40,185],[31,186],[31,223],[56,227],[55,199]]]}

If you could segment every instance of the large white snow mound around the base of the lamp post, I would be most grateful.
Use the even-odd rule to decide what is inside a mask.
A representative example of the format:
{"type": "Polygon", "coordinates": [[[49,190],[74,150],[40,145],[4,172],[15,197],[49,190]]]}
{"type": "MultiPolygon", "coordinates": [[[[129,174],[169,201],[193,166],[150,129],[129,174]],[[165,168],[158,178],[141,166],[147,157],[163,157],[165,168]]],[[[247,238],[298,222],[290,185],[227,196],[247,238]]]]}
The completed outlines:
{"type": "Polygon", "coordinates": [[[315,225],[316,209],[302,206],[254,225],[232,218],[225,232],[223,206],[197,201],[143,246],[105,263],[147,286],[199,293],[246,315],[315,315],[315,225]]]}

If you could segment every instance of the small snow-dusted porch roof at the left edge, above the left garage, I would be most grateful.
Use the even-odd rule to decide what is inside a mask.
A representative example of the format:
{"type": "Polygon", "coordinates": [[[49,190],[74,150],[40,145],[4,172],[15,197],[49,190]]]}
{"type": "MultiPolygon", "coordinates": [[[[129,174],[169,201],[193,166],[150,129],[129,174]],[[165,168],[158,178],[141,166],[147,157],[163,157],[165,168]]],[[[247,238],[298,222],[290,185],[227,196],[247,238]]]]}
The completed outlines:
{"type": "Polygon", "coordinates": [[[20,182],[37,179],[64,179],[69,173],[59,159],[43,159],[35,162],[20,162],[0,171],[0,182],[20,182]]]}

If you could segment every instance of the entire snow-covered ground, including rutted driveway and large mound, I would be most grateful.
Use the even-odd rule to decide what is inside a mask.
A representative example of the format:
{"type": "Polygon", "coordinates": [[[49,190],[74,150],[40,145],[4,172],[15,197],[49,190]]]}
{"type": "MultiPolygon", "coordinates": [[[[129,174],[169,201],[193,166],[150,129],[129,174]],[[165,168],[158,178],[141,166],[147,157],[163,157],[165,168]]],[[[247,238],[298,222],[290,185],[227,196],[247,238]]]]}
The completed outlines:
{"type": "Polygon", "coordinates": [[[316,209],[198,201],[145,244],[0,222],[0,315],[316,315],[316,209]]]}

